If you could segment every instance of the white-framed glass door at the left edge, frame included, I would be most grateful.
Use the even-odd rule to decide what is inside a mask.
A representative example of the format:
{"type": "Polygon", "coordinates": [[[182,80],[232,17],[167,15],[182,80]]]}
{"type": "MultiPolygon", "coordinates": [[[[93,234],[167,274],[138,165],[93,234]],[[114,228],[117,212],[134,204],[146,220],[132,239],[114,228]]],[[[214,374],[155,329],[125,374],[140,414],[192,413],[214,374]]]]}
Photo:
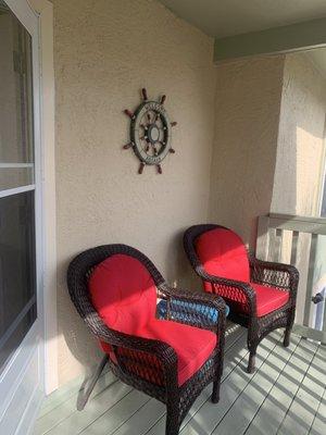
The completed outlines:
{"type": "Polygon", "coordinates": [[[27,434],[42,391],[38,22],[0,0],[0,433],[27,434]]]}

